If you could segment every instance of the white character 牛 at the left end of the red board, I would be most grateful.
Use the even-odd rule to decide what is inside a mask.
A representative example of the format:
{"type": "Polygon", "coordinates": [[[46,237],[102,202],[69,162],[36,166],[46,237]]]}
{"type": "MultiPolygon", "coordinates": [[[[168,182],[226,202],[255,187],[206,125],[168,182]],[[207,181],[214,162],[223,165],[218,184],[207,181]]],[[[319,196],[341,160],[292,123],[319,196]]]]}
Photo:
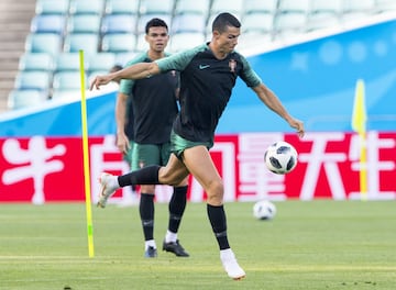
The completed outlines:
{"type": "Polygon", "coordinates": [[[41,136],[30,138],[28,149],[21,148],[18,140],[6,140],[2,146],[2,154],[8,163],[16,166],[12,169],[4,170],[2,182],[4,185],[12,185],[28,178],[33,178],[34,193],[32,202],[34,204],[43,204],[45,202],[45,176],[64,169],[63,161],[48,161],[48,159],[54,156],[62,156],[65,153],[66,146],[61,144],[53,148],[47,148],[45,138],[41,136]]]}

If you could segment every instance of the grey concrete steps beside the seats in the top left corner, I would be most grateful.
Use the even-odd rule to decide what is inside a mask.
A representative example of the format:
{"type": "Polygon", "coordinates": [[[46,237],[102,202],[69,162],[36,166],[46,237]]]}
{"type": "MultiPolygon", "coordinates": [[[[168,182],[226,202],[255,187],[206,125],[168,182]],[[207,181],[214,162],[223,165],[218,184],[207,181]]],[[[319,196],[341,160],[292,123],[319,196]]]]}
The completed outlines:
{"type": "Polygon", "coordinates": [[[0,113],[8,111],[8,94],[14,85],[34,9],[34,0],[0,1],[0,113]]]}

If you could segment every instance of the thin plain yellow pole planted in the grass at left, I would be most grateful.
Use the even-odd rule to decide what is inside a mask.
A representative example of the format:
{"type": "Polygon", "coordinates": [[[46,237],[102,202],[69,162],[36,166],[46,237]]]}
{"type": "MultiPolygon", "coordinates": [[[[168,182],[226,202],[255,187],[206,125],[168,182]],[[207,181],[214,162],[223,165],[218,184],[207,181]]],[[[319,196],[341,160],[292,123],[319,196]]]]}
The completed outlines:
{"type": "Polygon", "coordinates": [[[89,170],[89,150],[88,150],[88,129],[87,129],[87,102],[84,69],[84,51],[79,51],[80,79],[81,79],[81,124],[82,124],[82,157],[84,157],[84,180],[86,193],[86,212],[87,212],[87,233],[88,233],[88,255],[94,257],[94,227],[91,210],[91,191],[90,191],[90,170],[89,170]]]}

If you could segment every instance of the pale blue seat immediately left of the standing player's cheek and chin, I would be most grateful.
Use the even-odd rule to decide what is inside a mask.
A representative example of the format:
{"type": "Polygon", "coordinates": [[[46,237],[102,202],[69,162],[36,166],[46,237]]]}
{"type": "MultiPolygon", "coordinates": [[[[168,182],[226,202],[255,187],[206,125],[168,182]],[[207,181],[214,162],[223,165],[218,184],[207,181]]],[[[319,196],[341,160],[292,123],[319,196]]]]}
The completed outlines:
{"type": "Polygon", "coordinates": [[[107,53],[129,53],[135,46],[136,37],[133,33],[112,33],[103,36],[101,49],[107,53]]]}

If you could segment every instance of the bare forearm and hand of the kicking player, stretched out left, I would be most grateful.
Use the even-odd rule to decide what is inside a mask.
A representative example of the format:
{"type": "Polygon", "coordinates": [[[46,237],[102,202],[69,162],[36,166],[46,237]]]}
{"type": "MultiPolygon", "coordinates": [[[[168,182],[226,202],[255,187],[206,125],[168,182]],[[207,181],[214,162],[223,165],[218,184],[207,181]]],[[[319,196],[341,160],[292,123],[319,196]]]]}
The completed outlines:
{"type": "Polygon", "coordinates": [[[112,80],[119,81],[121,79],[142,79],[148,78],[160,72],[160,68],[155,62],[139,63],[112,74],[97,76],[90,85],[90,90],[92,90],[94,88],[99,89],[100,86],[107,85],[112,80]]]}

